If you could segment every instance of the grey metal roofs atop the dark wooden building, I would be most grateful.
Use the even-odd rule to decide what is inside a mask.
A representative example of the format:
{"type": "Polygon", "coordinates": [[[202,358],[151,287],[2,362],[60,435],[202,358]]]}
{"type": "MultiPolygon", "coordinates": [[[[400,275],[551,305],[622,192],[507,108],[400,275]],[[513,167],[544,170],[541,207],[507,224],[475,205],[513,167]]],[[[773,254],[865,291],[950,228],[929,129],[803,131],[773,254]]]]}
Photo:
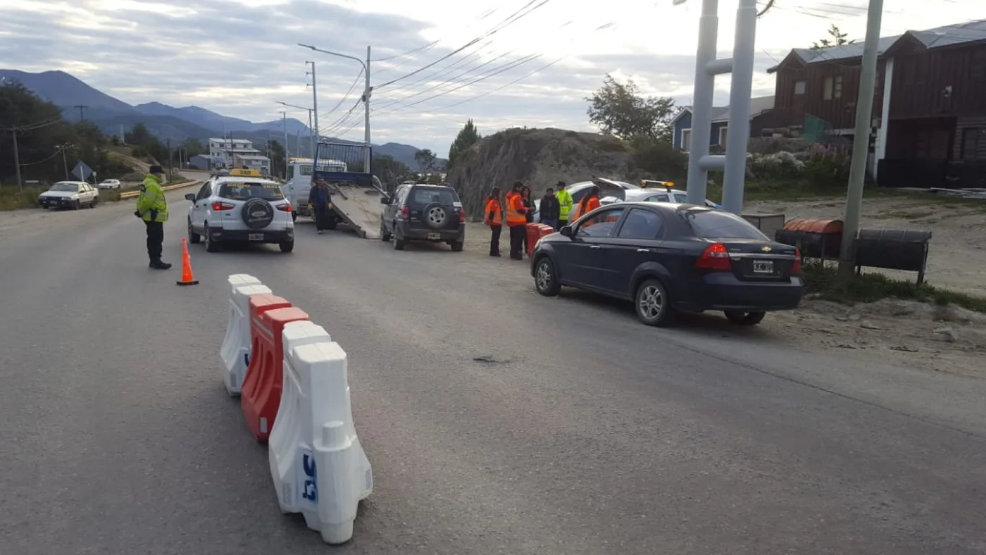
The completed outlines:
{"type": "MultiPolygon", "coordinates": [[[[903,35],[882,36],[878,43],[878,55],[882,55],[893,46],[897,40],[910,36],[921,42],[925,48],[941,48],[965,42],[986,41],[986,20],[976,20],[961,24],[947,25],[925,31],[908,31],[903,35]]],[[[863,41],[828,48],[793,48],[791,52],[807,64],[848,60],[863,56],[863,41]]],[[[767,73],[777,71],[777,66],[771,67],[767,73]]]]}

